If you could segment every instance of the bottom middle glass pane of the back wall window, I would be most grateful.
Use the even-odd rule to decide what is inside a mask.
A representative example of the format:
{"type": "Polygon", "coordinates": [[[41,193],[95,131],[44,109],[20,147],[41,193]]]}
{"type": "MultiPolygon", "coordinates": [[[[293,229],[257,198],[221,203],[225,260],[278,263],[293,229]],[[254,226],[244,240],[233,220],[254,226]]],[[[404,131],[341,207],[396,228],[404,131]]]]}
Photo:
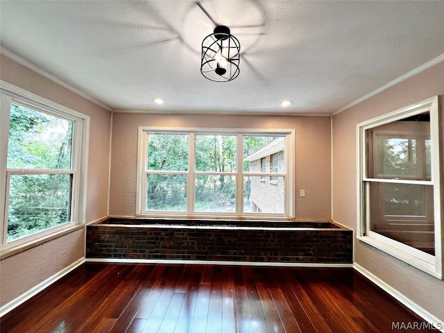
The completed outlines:
{"type": "Polygon", "coordinates": [[[234,212],[235,176],[196,176],[196,212],[234,212]]]}

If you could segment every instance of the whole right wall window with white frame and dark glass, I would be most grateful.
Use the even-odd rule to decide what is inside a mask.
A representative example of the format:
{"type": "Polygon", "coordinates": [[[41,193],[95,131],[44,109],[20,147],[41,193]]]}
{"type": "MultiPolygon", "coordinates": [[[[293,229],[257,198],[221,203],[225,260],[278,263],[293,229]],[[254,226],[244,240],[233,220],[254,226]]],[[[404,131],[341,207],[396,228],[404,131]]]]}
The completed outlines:
{"type": "Polygon", "coordinates": [[[359,238],[442,278],[438,99],[358,124],[359,238]]]}

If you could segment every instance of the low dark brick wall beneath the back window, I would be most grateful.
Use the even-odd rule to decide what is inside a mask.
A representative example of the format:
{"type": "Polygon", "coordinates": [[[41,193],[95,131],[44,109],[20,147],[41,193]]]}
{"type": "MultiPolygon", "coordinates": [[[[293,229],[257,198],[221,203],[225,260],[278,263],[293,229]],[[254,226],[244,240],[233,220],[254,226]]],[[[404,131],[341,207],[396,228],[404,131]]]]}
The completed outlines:
{"type": "Polygon", "coordinates": [[[87,226],[87,258],[351,263],[352,230],[87,226]]]}

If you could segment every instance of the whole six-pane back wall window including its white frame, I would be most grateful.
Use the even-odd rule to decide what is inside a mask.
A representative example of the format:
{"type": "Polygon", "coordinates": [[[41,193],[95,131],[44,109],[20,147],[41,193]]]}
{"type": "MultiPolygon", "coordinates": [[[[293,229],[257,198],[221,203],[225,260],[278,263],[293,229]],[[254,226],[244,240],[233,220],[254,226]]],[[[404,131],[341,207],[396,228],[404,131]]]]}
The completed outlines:
{"type": "Polygon", "coordinates": [[[137,214],[294,216],[292,141],[291,130],[141,127],[137,214]]]}

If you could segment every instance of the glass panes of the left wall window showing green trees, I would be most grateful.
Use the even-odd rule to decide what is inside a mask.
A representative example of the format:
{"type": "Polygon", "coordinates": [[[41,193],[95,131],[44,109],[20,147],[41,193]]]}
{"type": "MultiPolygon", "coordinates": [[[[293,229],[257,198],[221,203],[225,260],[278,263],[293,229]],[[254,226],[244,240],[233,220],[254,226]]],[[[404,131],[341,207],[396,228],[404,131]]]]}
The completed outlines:
{"type": "Polygon", "coordinates": [[[72,130],[72,121],[11,104],[8,243],[71,221],[72,130]]]}

